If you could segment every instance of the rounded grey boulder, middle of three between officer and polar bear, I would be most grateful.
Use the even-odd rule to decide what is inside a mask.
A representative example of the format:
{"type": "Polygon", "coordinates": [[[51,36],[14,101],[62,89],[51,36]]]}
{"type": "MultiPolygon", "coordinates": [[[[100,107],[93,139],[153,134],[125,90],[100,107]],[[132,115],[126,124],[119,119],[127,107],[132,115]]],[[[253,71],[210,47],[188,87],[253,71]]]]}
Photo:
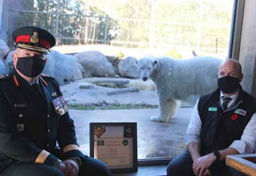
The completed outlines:
{"type": "Polygon", "coordinates": [[[74,55],[85,70],[85,76],[114,77],[114,66],[99,51],[85,51],[74,55]]]}

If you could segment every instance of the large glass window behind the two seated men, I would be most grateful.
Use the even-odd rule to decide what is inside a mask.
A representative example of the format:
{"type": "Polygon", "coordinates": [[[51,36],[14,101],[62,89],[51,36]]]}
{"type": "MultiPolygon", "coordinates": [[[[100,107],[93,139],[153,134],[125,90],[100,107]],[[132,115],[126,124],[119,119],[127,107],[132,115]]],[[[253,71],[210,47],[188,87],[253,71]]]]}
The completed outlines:
{"type": "MultiPolygon", "coordinates": [[[[56,37],[53,50],[69,55],[50,53],[47,57],[53,65],[45,72],[61,80],[85,154],[89,155],[90,122],[137,122],[139,159],[175,157],[186,148],[184,136],[193,107],[206,92],[197,90],[205,86],[210,93],[216,88],[217,64],[228,55],[234,0],[19,3],[18,9],[9,6],[9,38],[19,26],[38,26],[56,37]],[[196,55],[209,61],[208,66],[175,65],[196,55]],[[151,61],[140,68],[136,62],[143,57],[151,61]],[[168,57],[161,66],[153,62],[159,63],[159,57],[168,57]],[[207,70],[210,64],[215,70],[207,70]],[[164,76],[154,77],[161,71],[164,76]],[[200,85],[205,75],[213,82],[200,85]],[[161,94],[162,90],[168,91],[161,94]],[[160,107],[162,120],[172,116],[168,122],[152,118],[161,112],[160,107]]],[[[13,46],[12,40],[8,43],[13,46]]]]}

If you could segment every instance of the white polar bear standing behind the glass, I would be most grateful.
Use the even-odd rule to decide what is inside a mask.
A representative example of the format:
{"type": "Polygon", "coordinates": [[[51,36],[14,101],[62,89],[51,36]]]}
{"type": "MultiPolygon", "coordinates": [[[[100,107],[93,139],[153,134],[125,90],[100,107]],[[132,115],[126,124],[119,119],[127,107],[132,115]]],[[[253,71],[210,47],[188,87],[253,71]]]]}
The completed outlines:
{"type": "Polygon", "coordinates": [[[182,100],[214,91],[221,61],[214,57],[180,60],[146,57],[139,60],[136,65],[141,78],[153,80],[159,97],[160,114],[150,120],[168,122],[182,100]]]}

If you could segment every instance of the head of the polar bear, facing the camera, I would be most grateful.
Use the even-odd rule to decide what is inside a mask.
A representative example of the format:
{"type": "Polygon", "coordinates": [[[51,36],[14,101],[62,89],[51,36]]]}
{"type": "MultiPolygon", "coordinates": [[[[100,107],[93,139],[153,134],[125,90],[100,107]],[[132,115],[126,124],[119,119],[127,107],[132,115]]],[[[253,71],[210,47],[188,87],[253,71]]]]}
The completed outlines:
{"type": "Polygon", "coordinates": [[[149,58],[143,58],[136,63],[138,72],[143,81],[146,81],[147,79],[149,79],[149,76],[153,72],[153,69],[156,64],[157,64],[157,61],[153,62],[149,58]]]}

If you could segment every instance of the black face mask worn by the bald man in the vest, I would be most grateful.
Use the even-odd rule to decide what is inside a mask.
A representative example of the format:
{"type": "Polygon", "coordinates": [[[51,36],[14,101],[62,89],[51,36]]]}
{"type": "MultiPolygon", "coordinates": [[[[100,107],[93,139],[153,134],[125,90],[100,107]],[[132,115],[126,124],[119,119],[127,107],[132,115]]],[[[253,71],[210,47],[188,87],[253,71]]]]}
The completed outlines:
{"type": "Polygon", "coordinates": [[[224,76],[218,79],[218,87],[223,93],[232,93],[239,87],[239,79],[232,76],[224,76]]]}

